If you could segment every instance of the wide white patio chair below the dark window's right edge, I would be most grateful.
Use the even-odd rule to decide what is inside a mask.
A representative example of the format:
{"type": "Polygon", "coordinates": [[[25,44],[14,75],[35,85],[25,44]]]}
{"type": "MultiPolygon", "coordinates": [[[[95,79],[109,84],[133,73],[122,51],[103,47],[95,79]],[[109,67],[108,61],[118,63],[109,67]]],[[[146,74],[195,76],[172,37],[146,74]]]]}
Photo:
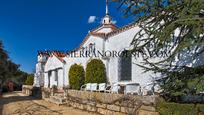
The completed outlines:
{"type": "Polygon", "coordinates": [[[141,86],[138,83],[126,84],[125,94],[141,94],[141,86]]]}

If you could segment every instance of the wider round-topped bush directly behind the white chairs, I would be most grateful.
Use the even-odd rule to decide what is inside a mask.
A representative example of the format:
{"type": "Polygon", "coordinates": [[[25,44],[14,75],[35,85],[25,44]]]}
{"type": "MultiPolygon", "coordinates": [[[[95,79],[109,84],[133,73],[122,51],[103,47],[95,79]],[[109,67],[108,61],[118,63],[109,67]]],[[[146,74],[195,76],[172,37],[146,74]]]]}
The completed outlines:
{"type": "Polygon", "coordinates": [[[86,67],[86,83],[105,83],[105,65],[99,59],[91,60],[86,67]]]}

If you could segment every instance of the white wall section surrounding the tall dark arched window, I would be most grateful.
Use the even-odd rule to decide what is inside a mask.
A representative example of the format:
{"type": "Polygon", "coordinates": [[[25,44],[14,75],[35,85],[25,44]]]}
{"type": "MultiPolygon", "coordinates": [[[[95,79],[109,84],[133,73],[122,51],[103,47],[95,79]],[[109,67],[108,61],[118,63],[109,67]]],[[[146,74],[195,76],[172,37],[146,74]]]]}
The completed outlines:
{"type": "MultiPolygon", "coordinates": [[[[114,35],[106,40],[106,50],[110,51],[123,51],[124,49],[131,49],[131,42],[134,39],[135,34],[139,31],[139,27],[134,27],[127,31],[124,31],[120,34],[114,35]]],[[[137,64],[141,64],[140,62],[142,57],[132,57],[132,80],[131,81],[119,81],[119,57],[110,58],[109,61],[109,71],[108,77],[111,83],[119,82],[119,83],[139,83],[142,86],[145,86],[152,81],[152,77],[158,76],[153,72],[146,72],[139,67],[137,64]]]]}

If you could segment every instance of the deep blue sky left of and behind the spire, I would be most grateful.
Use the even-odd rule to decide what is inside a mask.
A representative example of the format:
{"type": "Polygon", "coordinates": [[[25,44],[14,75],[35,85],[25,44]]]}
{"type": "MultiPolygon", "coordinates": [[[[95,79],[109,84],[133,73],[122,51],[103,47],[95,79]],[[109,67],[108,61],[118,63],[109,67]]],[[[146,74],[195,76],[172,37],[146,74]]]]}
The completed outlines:
{"type": "MultiPolygon", "coordinates": [[[[133,18],[123,18],[118,6],[109,3],[109,14],[121,27],[133,18]]],[[[105,0],[0,0],[0,40],[10,58],[30,73],[38,50],[78,47],[104,15],[105,0]]]]}

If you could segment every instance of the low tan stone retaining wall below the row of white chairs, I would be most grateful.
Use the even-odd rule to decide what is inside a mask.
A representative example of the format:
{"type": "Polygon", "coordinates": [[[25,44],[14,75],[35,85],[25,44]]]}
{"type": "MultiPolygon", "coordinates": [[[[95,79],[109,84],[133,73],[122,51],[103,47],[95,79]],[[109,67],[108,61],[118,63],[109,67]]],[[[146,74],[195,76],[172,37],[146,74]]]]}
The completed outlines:
{"type": "Polygon", "coordinates": [[[135,96],[69,90],[67,104],[104,115],[158,115],[156,96],[135,96]]]}

